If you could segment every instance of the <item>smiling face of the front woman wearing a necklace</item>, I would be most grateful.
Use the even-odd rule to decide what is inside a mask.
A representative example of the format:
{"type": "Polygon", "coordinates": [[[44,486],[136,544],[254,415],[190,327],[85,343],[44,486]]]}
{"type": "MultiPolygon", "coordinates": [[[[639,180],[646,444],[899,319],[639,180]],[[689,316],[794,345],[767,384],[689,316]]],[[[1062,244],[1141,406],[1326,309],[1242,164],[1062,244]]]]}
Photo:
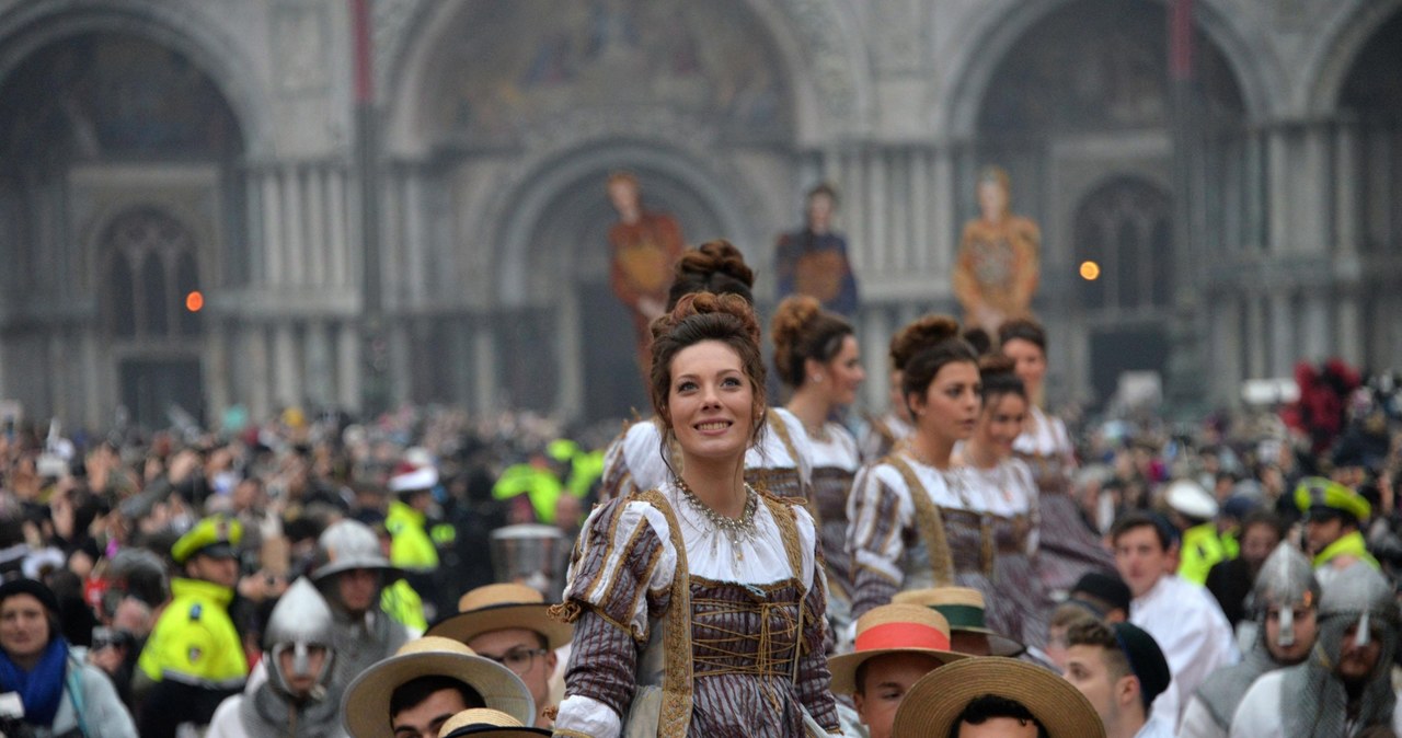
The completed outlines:
{"type": "Polygon", "coordinates": [[[691,457],[743,457],[758,408],[740,354],[702,340],[672,358],[667,416],[681,451],[691,457]]]}

